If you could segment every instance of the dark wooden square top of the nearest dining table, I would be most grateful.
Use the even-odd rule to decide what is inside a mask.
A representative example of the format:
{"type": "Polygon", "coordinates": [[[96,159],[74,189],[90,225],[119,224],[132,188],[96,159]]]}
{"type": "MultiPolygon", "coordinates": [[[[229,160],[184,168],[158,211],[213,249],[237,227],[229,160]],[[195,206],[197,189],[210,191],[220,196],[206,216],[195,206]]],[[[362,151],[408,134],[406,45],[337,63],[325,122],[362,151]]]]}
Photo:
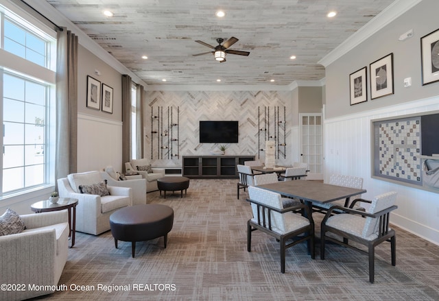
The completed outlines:
{"type": "Polygon", "coordinates": [[[295,197],[305,202],[319,202],[323,204],[366,193],[366,189],[324,184],[323,182],[311,180],[276,182],[257,185],[257,187],[274,191],[287,197],[295,197]]]}

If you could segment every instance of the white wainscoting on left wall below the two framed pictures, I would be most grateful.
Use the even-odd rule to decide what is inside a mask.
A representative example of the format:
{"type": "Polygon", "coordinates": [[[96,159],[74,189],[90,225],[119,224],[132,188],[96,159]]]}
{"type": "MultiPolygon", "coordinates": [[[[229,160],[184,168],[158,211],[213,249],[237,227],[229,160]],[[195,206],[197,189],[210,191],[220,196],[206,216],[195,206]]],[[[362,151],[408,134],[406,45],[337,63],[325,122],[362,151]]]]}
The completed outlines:
{"type": "Polygon", "coordinates": [[[78,114],[78,172],[122,171],[122,122],[78,114]]]}

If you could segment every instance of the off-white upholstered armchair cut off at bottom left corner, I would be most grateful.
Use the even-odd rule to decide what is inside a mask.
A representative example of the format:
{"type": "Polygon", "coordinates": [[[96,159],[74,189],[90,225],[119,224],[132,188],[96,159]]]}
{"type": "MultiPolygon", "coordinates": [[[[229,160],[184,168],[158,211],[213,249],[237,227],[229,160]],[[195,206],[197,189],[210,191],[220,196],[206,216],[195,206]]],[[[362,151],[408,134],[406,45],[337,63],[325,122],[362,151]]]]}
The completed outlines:
{"type": "Polygon", "coordinates": [[[58,285],[67,261],[69,216],[66,210],[21,215],[26,229],[0,236],[1,283],[25,285],[24,291],[0,290],[0,300],[25,300],[53,293],[28,285],[58,285]]]}

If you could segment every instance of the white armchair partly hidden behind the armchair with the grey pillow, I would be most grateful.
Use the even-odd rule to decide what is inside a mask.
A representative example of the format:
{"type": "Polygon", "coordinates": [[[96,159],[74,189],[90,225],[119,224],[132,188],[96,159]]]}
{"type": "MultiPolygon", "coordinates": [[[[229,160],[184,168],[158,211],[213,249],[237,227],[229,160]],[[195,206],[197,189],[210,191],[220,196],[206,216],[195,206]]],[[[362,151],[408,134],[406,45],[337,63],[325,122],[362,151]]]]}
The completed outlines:
{"type": "Polygon", "coordinates": [[[146,204],[146,179],[119,180],[116,171],[107,166],[101,171],[103,179],[107,180],[108,186],[130,187],[132,189],[132,204],[146,204]]]}

